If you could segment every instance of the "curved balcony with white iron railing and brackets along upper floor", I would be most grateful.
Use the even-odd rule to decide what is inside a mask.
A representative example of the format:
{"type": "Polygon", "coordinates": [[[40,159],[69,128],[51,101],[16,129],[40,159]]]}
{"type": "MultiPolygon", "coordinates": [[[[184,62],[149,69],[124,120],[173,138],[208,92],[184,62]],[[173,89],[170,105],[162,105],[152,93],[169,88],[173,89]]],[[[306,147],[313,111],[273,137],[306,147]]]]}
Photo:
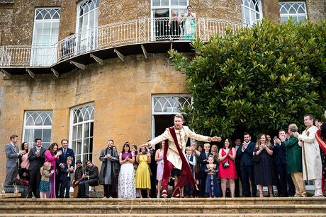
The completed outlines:
{"type": "MultiPolygon", "coordinates": [[[[167,52],[171,47],[180,52],[191,52],[190,43],[194,37],[208,42],[211,36],[225,35],[226,29],[233,32],[244,28],[237,22],[215,18],[194,19],[192,37],[186,34],[186,22],[171,18],[142,18],[120,23],[102,25],[48,46],[8,45],[0,47],[0,69],[10,74],[59,73],[94,61],[103,64],[103,59],[125,55],[167,52]]],[[[189,28],[189,27],[188,27],[189,28]]],[[[189,30],[188,30],[189,31],[189,30]]],[[[32,76],[33,77],[33,76],[32,76]]]]}

